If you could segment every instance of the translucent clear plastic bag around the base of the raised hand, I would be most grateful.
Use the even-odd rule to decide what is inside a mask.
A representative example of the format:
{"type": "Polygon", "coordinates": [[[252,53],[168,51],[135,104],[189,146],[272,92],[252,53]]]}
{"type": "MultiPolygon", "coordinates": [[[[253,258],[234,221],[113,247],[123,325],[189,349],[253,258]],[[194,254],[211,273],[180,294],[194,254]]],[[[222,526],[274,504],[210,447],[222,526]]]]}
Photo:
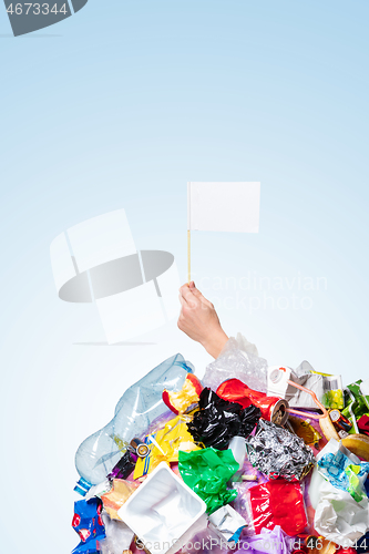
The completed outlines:
{"type": "Polygon", "coordinates": [[[257,356],[254,345],[242,335],[230,338],[216,360],[206,368],[204,387],[216,390],[223,381],[236,378],[254,390],[266,392],[268,363],[257,356]]]}

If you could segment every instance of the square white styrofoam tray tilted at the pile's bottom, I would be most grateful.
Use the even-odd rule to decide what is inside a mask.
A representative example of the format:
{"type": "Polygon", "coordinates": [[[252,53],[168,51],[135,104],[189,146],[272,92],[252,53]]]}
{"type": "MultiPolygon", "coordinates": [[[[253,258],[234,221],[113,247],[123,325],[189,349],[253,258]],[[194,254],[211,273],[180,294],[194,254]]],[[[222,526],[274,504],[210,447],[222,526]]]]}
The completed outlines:
{"type": "Polygon", "coordinates": [[[165,554],[184,545],[182,541],[186,531],[205,512],[205,502],[162,462],[117,515],[152,554],[165,554]]]}

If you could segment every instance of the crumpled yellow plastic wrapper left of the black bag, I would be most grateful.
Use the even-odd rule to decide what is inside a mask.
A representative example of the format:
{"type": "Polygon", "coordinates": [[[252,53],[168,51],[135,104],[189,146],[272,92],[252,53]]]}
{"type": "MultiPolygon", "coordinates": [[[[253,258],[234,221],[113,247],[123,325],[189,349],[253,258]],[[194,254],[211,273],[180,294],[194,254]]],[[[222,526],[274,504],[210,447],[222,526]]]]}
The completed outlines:
{"type": "Polygon", "coordinates": [[[155,434],[145,438],[145,443],[150,447],[150,454],[146,458],[139,458],[133,479],[151,473],[161,462],[167,464],[177,462],[180,450],[184,452],[201,450],[187,431],[188,421],[187,416],[177,416],[155,434]]]}

